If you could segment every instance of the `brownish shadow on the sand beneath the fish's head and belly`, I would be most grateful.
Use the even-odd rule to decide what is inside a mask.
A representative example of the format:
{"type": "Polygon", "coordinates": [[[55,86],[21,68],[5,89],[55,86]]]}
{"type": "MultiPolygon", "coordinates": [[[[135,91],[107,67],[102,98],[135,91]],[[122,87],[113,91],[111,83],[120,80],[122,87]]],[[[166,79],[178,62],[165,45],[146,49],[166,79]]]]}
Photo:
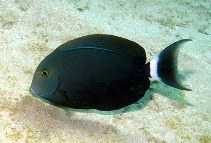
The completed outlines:
{"type": "Polygon", "coordinates": [[[66,137],[61,136],[61,138],[71,137],[77,141],[82,141],[83,138],[78,138],[80,136],[96,141],[107,140],[115,136],[117,141],[122,142],[122,137],[125,136],[120,130],[106,124],[105,116],[101,119],[103,115],[97,115],[97,119],[93,119],[95,115],[92,114],[67,115],[63,109],[43,103],[29,95],[24,96],[14,105],[12,115],[18,125],[33,130],[33,138],[37,139],[62,135],[66,137]]]}

